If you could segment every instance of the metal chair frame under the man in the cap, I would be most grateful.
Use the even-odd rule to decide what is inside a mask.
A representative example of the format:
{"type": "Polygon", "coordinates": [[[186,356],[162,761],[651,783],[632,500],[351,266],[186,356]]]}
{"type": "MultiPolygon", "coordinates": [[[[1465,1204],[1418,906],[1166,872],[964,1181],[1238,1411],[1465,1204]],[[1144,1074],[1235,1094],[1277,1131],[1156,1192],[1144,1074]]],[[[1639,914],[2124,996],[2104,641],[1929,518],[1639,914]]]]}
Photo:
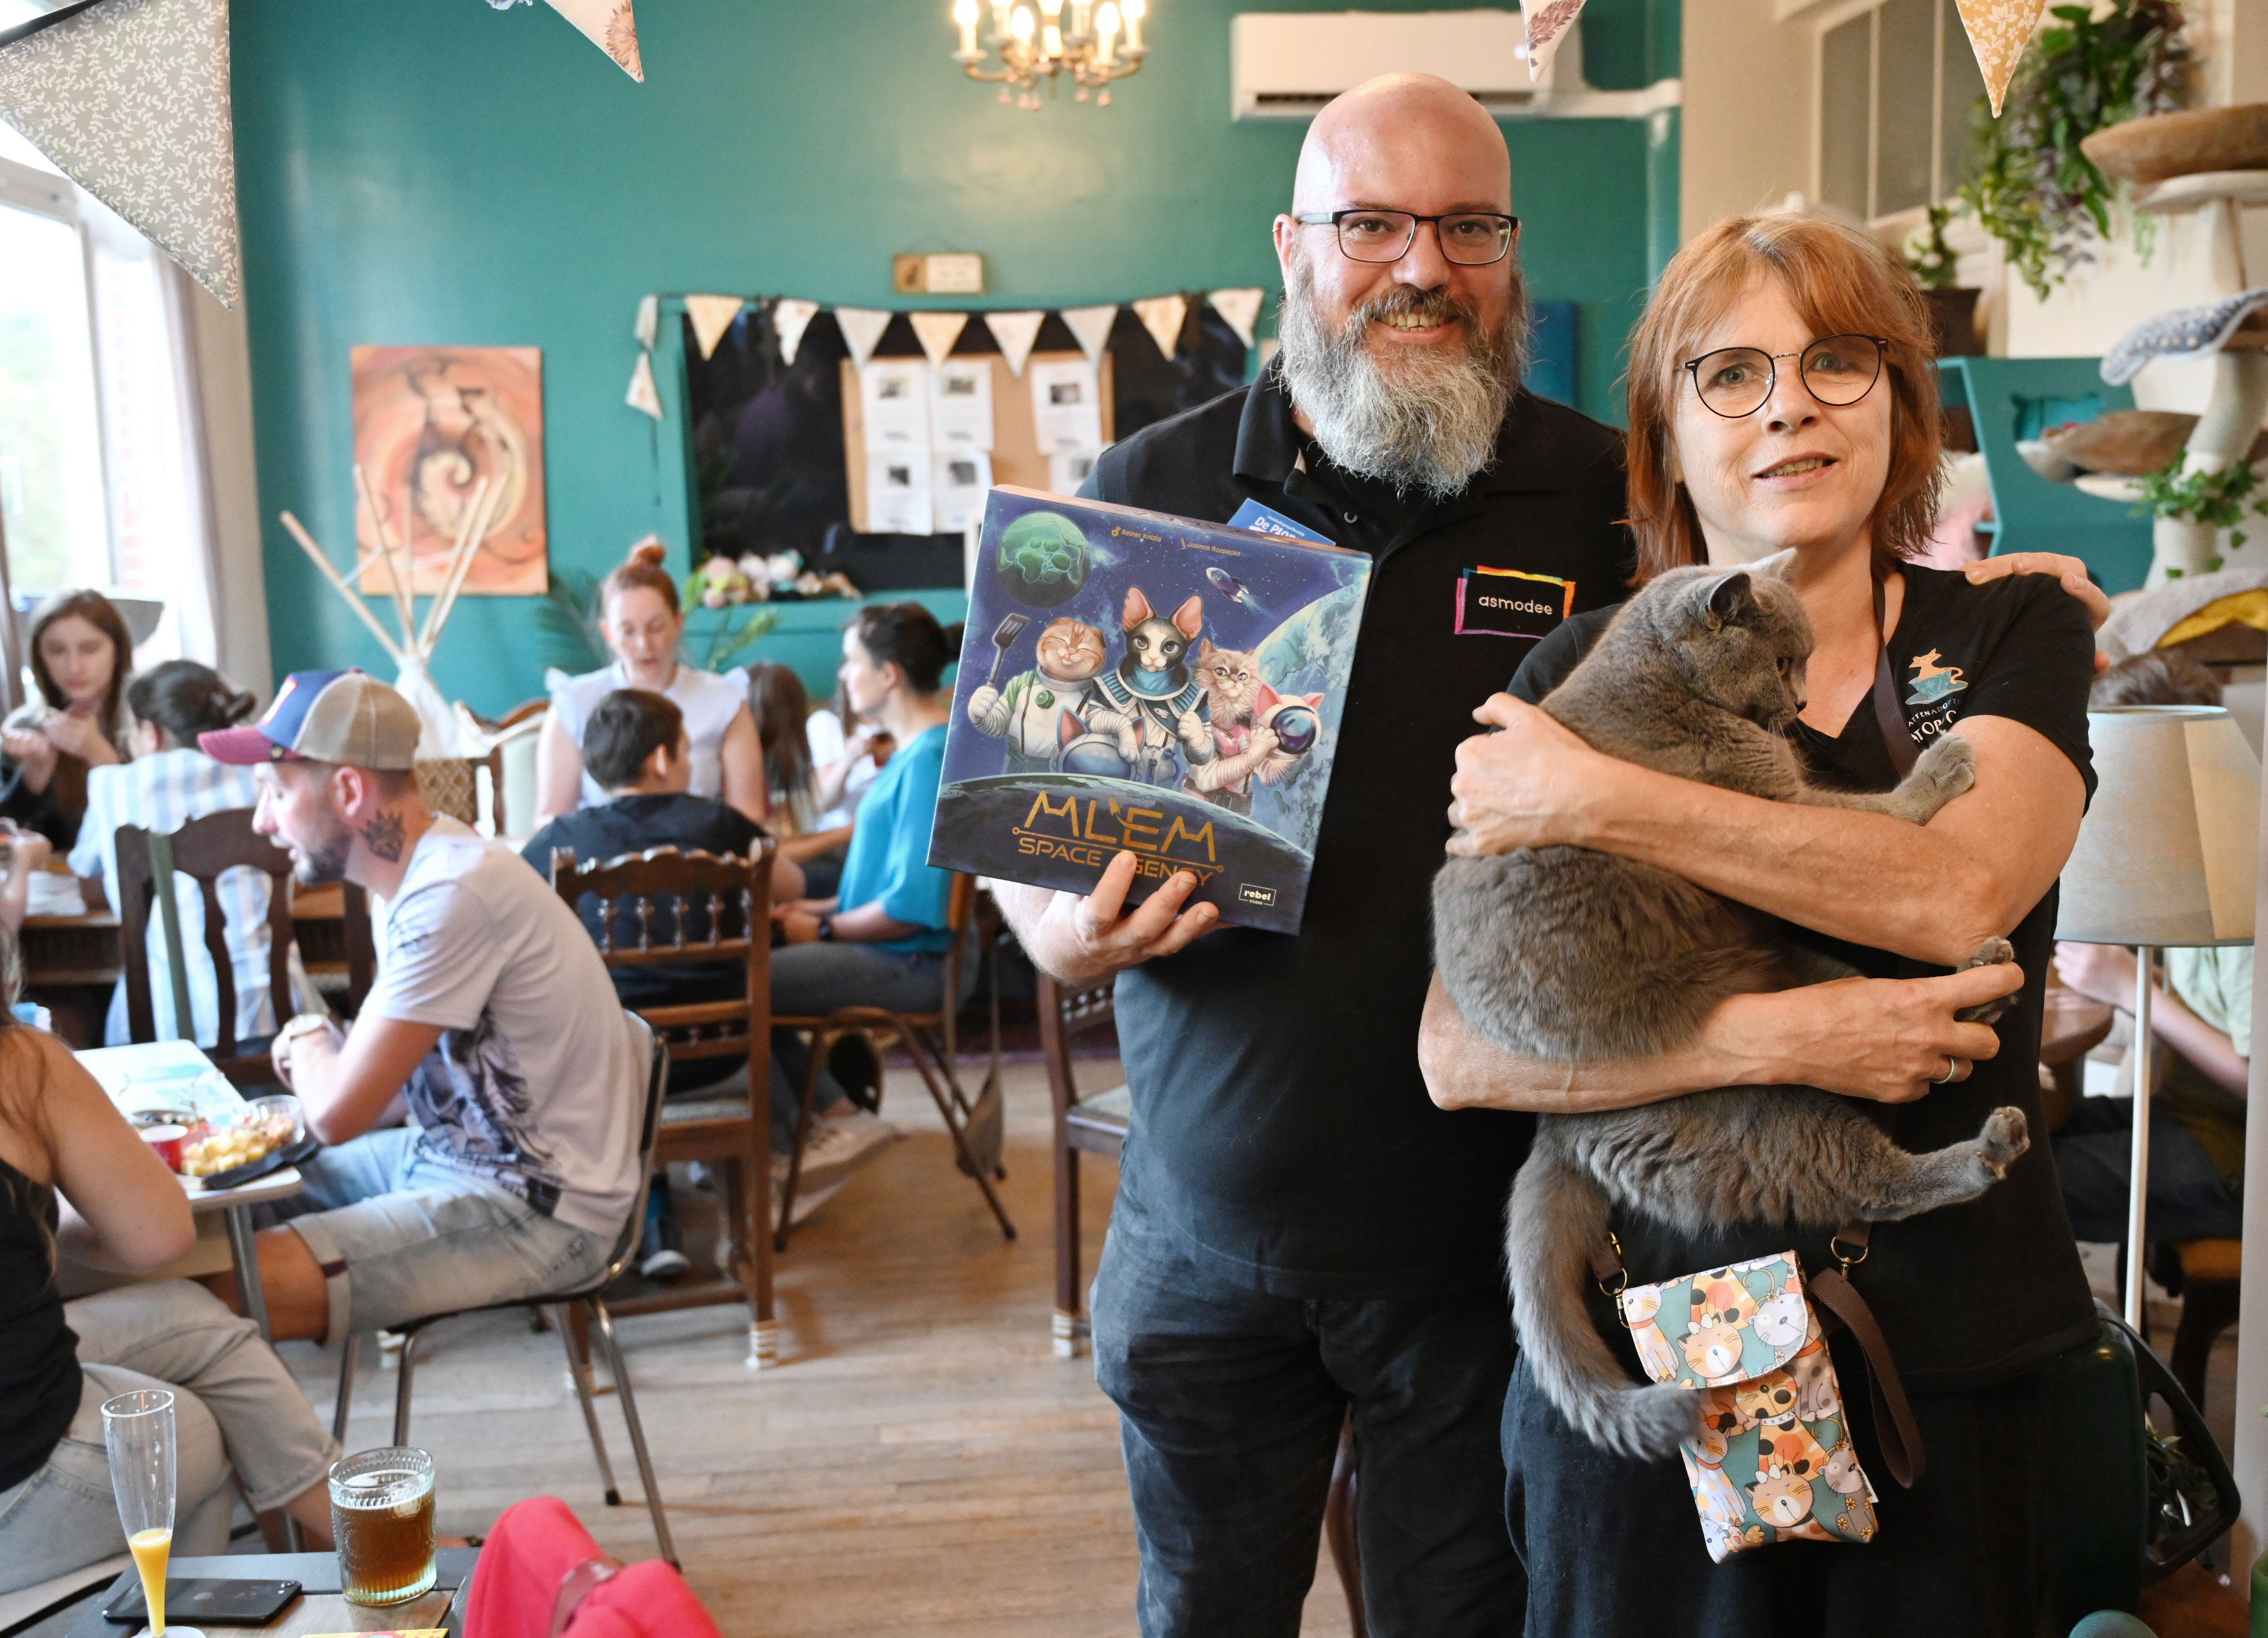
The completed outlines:
{"type": "MultiPolygon", "coordinates": [[[[624,1014],[626,1019],[637,1019],[635,1012],[624,1014]]],[[[540,1298],[515,1298],[513,1302],[483,1302],[472,1309],[449,1309],[447,1314],[429,1314],[424,1318],[411,1320],[399,1327],[401,1334],[401,1366],[395,1382],[395,1443],[411,1443],[411,1386],[417,1373],[417,1343],[433,1325],[442,1320],[454,1320],[460,1314],[490,1314],[497,1309],[544,1309],[551,1316],[551,1325],[560,1334],[560,1343],[567,1348],[567,1375],[574,1377],[576,1400],[583,1404],[583,1427],[590,1432],[590,1450],[599,1459],[599,1479],[606,1486],[606,1504],[621,1506],[621,1491],[615,1486],[615,1463],[606,1454],[606,1434],[599,1429],[599,1407],[592,1400],[590,1386],[590,1350],[576,1348],[576,1327],[569,1323],[569,1311],[581,1307],[596,1320],[599,1341],[606,1345],[606,1363],[615,1375],[615,1395],[621,1400],[621,1420],[631,1427],[631,1452],[637,1457],[637,1477],[646,1486],[646,1513],[653,1515],[653,1536],[662,1547],[662,1559],[671,1565],[678,1563],[676,1540],[669,1536],[669,1515],[662,1509],[660,1486],[653,1481],[653,1457],[646,1452],[646,1425],[637,1418],[637,1398],[631,1391],[631,1373],[621,1363],[621,1343],[615,1339],[615,1316],[606,1300],[606,1289],[621,1277],[637,1257],[637,1236],[646,1225],[646,1189],[653,1177],[653,1143],[660,1130],[662,1116],[662,1089],[669,1084],[669,1048],[662,1044],[660,1032],[637,1019],[649,1037],[649,1064],[646,1064],[646,1107],[640,1116],[637,1128],[637,1198],[631,1202],[631,1216],[621,1225],[621,1234],[615,1236],[615,1250],[608,1257],[606,1270],[587,1284],[574,1286],[569,1291],[553,1291],[540,1298]]],[[[345,1443],[347,1438],[347,1411],[354,1404],[354,1363],[356,1363],[358,1336],[347,1336],[342,1357],[338,1361],[338,1404],[331,1411],[331,1436],[345,1443]]]]}

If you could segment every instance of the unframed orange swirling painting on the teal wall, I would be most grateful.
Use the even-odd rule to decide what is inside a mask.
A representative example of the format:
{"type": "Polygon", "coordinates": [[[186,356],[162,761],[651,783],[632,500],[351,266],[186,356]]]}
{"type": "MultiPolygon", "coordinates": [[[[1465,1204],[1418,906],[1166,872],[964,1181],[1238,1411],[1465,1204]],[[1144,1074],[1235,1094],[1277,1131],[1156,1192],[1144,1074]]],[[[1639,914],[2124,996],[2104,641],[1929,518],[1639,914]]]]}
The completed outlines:
{"type": "Polygon", "coordinates": [[[390,594],[376,522],[411,542],[411,590],[442,590],[449,551],[481,479],[503,504],[465,576],[476,597],[542,597],[544,354],[540,347],[356,347],[354,461],[370,483],[356,506],[361,590],[390,594]],[[372,517],[372,506],[379,517],[372,517]]]}

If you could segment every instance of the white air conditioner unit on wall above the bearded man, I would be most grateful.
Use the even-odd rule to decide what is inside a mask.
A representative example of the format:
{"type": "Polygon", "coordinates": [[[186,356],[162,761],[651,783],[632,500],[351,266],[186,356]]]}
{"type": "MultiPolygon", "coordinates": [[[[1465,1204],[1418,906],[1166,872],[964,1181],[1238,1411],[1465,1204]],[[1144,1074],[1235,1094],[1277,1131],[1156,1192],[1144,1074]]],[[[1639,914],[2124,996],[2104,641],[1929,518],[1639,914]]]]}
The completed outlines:
{"type": "MultiPolygon", "coordinates": [[[[1560,52],[1572,48],[1572,39],[1560,43],[1560,52]]],[[[1393,70],[1440,75],[1490,113],[1526,113],[1549,98],[1554,66],[1529,79],[1529,34],[1517,9],[1241,11],[1229,25],[1238,120],[1306,120],[1340,91],[1393,70]]]]}

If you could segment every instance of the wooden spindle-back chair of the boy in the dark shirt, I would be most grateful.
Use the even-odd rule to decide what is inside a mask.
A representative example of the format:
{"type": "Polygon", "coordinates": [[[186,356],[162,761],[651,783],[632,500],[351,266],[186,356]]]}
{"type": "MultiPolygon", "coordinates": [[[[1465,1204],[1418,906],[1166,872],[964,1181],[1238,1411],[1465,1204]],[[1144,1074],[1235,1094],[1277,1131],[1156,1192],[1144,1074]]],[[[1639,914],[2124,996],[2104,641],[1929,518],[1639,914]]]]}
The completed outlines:
{"type": "Polygon", "coordinates": [[[671,1064],[701,1059],[746,1062],[746,1087],[717,1096],[699,1091],[662,1105],[653,1164],[714,1162],[723,1175],[728,1250],[721,1280],[674,1284],[651,1295],[624,1298],[615,1314],[660,1314],[717,1302],[748,1305],[748,1366],[780,1361],[780,1329],[771,1300],[771,855],[769,837],[751,858],[680,853],[674,846],[624,853],[583,864],[574,848],[553,848],[551,887],[581,914],[599,898],[599,957],[610,969],[733,966],[746,989],[730,1000],[642,1007],[669,1050],[671,1064]],[[674,903],[662,903],[674,901],[674,903]],[[705,937],[687,937],[685,907],[705,910],[705,937]],[[655,912],[665,935],[655,932],[655,912]],[[621,944],[617,919],[637,926],[637,942],[621,944]],[[753,937],[751,937],[753,935],[753,937]]]}

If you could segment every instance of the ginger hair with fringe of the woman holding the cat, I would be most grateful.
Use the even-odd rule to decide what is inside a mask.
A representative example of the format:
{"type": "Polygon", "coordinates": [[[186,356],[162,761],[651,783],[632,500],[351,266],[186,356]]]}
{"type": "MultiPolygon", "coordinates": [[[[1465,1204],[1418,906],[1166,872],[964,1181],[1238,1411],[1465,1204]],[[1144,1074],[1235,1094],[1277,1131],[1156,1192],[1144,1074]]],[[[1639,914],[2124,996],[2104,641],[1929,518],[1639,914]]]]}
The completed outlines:
{"type": "Polygon", "coordinates": [[[1662,270],[1631,333],[1628,474],[1637,581],[1708,563],[1701,517],[1672,476],[1685,361],[1755,279],[1787,290],[1812,336],[1885,336],[1889,474],[1873,506],[1873,572],[1921,554],[1937,520],[1941,424],[1930,315],[1912,277],[1887,250],[1821,216],[1730,216],[1699,234],[1662,270]]]}

